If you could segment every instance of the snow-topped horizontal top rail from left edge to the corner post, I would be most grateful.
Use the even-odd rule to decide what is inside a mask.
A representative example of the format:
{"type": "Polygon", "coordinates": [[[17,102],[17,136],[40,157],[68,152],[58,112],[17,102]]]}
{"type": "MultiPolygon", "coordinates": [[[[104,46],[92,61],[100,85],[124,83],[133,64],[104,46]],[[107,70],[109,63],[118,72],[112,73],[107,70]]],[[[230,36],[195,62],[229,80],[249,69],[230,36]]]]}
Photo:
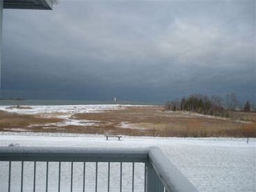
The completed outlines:
{"type": "Polygon", "coordinates": [[[145,162],[149,148],[0,147],[0,161],[145,162]]]}

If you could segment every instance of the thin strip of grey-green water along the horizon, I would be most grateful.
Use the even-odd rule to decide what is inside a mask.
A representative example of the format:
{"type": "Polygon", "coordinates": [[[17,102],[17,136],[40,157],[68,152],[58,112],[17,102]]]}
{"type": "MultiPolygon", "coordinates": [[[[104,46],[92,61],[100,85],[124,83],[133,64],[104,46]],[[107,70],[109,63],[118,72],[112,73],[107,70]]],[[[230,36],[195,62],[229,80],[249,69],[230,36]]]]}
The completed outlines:
{"type": "Polygon", "coordinates": [[[73,101],[73,100],[0,100],[0,106],[14,105],[83,105],[83,104],[131,104],[131,105],[163,105],[161,102],[113,102],[113,101],[73,101]]]}

